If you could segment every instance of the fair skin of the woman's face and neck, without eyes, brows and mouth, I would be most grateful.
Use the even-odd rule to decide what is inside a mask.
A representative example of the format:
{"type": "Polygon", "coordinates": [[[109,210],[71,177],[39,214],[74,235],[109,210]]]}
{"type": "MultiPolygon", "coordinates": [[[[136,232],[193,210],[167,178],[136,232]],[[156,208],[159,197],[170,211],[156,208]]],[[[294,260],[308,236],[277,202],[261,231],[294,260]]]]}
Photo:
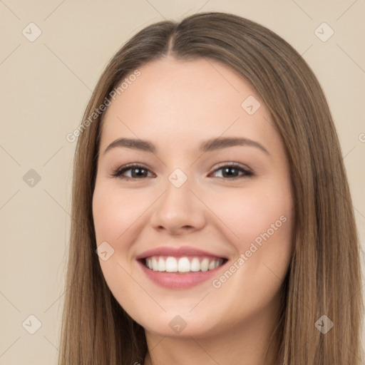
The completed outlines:
{"type": "MultiPolygon", "coordinates": [[[[267,359],[264,354],[277,325],[294,215],[287,156],[269,111],[244,78],[218,61],[168,57],[139,70],[103,120],[93,218],[97,245],[106,241],[114,250],[99,259],[108,287],[145,328],[147,365],[276,364],[272,348],[267,359]],[[253,115],[241,106],[248,96],[261,104],[253,115]],[[247,145],[198,152],[202,140],[220,136],[250,138],[269,155],[247,145]],[[104,153],[120,137],[149,140],[158,151],[104,153]],[[253,175],[230,180],[218,169],[232,162],[253,175]],[[110,176],[128,163],[148,172],[140,178],[135,169],[126,171],[133,180],[110,176]],[[168,180],[176,168],[187,177],[179,188],[168,180]],[[286,222],[219,288],[212,280],[188,289],[160,287],[135,260],[151,248],[190,245],[229,259],[219,279],[281,216],[286,222]],[[186,323],[180,333],[169,326],[176,315],[186,323]]],[[[242,177],[241,170],[230,171],[242,177]]]]}

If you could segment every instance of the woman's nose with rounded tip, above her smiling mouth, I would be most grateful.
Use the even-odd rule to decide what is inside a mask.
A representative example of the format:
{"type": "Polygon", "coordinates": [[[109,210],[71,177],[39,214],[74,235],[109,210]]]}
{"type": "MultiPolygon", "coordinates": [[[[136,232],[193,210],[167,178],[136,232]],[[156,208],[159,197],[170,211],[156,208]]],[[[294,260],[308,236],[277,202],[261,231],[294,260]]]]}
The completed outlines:
{"type": "Polygon", "coordinates": [[[193,191],[190,179],[180,187],[168,180],[165,192],[153,205],[150,225],[155,230],[165,231],[170,235],[181,235],[200,230],[205,225],[207,207],[199,194],[193,191]]]}

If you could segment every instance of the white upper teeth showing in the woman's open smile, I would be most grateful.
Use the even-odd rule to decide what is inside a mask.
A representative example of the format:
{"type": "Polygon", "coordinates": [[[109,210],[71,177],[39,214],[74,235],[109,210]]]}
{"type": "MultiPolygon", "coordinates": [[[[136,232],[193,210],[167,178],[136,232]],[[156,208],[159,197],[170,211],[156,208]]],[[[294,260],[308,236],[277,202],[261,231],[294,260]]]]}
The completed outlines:
{"type": "Polygon", "coordinates": [[[146,266],[153,271],[166,272],[197,272],[219,267],[223,259],[208,257],[161,257],[153,256],[145,259],[146,266]]]}

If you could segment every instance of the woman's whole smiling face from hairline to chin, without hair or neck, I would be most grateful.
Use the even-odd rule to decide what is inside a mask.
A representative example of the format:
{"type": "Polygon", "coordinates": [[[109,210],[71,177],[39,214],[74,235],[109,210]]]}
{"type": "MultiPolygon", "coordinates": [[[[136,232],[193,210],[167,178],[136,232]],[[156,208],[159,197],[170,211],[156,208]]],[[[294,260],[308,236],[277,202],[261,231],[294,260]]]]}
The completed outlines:
{"type": "Polygon", "coordinates": [[[272,319],[294,216],[269,111],[217,61],[139,71],[106,110],[98,157],[93,219],[110,291],[163,336],[272,319]]]}

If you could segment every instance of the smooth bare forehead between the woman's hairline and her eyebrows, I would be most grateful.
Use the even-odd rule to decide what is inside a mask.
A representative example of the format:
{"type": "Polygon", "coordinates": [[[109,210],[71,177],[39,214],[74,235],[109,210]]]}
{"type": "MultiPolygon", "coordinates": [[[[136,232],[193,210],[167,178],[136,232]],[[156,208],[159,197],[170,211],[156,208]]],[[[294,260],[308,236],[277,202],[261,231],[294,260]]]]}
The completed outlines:
{"type": "Polygon", "coordinates": [[[228,66],[160,58],[138,70],[133,81],[125,76],[127,88],[106,110],[101,147],[122,136],[168,140],[176,148],[221,135],[279,143],[262,99],[228,66]]]}

